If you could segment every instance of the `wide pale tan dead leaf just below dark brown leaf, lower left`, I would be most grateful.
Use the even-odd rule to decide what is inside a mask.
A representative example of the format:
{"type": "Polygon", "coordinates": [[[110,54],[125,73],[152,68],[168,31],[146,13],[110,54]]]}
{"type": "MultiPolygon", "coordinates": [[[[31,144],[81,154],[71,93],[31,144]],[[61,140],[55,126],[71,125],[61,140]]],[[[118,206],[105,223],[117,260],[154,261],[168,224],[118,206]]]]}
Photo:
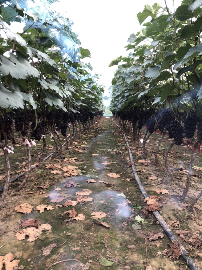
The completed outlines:
{"type": "Polygon", "coordinates": [[[27,227],[25,229],[22,229],[19,232],[17,232],[15,236],[18,240],[23,240],[25,239],[25,236],[27,235],[29,237],[27,241],[33,242],[34,240],[40,237],[42,231],[51,230],[51,229],[52,227],[50,224],[41,224],[39,225],[38,228],[27,227]]]}

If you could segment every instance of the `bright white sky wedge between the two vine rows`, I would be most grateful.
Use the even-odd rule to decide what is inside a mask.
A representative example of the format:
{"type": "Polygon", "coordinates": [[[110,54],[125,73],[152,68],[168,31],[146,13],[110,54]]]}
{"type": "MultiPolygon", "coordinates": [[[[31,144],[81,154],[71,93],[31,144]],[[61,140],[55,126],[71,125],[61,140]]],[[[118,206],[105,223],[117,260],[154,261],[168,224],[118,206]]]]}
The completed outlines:
{"type": "MultiPolygon", "coordinates": [[[[89,49],[93,73],[101,73],[100,84],[111,85],[113,73],[117,66],[108,67],[109,63],[120,55],[128,55],[124,48],[130,34],[140,31],[141,26],[136,14],[142,12],[146,4],[158,2],[163,8],[164,0],[59,0],[58,8],[65,12],[66,17],[74,21],[72,30],[79,34],[82,48],[89,49]]],[[[170,11],[175,9],[182,0],[166,0],[170,11]]]]}

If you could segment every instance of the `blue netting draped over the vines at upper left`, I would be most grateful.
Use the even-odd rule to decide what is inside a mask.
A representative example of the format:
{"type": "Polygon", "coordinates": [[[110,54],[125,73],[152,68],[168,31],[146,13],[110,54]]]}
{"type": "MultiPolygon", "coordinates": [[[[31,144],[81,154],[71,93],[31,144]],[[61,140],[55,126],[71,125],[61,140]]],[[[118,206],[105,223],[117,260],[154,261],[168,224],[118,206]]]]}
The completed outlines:
{"type": "Polygon", "coordinates": [[[4,8],[1,15],[4,21],[9,24],[12,21],[24,21],[26,24],[25,30],[28,28],[41,28],[57,44],[62,54],[67,53],[69,58],[74,59],[75,45],[81,45],[81,42],[78,35],[72,31],[73,22],[71,19],[65,18],[57,10],[57,2],[56,0],[18,0],[18,2],[16,0],[9,2],[2,0],[0,3],[4,4],[4,8]],[[22,18],[16,9],[13,9],[14,6],[17,6],[19,10],[24,9],[25,13],[35,18],[35,20],[27,18],[27,16],[22,18]]]}

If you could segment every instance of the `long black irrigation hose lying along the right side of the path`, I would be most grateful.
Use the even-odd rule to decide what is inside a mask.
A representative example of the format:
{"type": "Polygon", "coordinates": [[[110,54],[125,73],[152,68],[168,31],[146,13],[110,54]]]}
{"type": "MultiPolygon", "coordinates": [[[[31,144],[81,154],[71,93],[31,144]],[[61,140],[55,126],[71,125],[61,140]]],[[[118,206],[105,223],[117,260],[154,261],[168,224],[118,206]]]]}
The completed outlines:
{"type": "MultiPolygon", "coordinates": [[[[112,117],[112,121],[117,125],[117,123],[113,120],[113,117],[112,117]]],[[[117,127],[119,127],[117,125],[117,127]]],[[[120,127],[119,127],[120,128],[120,127]]],[[[123,130],[120,128],[121,132],[123,132],[123,130]]],[[[129,153],[129,156],[130,156],[130,161],[131,162],[134,162],[133,161],[133,155],[131,153],[131,150],[130,150],[130,146],[128,144],[128,140],[125,136],[125,134],[123,133],[123,136],[124,136],[124,139],[126,141],[126,145],[128,147],[128,153],[129,153]]],[[[132,167],[132,170],[133,170],[133,174],[134,174],[134,177],[135,177],[135,180],[137,182],[137,185],[142,193],[142,196],[144,198],[147,198],[149,197],[140,181],[140,178],[138,177],[137,175],[137,171],[135,169],[135,165],[132,164],[131,165],[132,167]]],[[[189,266],[189,268],[191,270],[200,270],[198,268],[198,266],[195,264],[194,260],[191,258],[191,257],[188,257],[186,254],[187,254],[187,251],[186,249],[183,247],[183,245],[178,241],[178,239],[176,238],[176,236],[173,234],[173,232],[170,230],[170,228],[168,227],[168,225],[166,224],[165,220],[162,218],[162,216],[159,214],[159,212],[157,210],[155,210],[153,212],[155,218],[158,220],[158,222],[161,224],[161,227],[163,228],[163,230],[166,232],[166,234],[168,235],[168,237],[170,238],[170,240],[173,242],[173,241],[177,241],[177,244],[178,244],[178,247],[180,248],[180,251],[181,251],[181,254],[182,254],[182,258],[184,259],[184,261],[186,262],[186,264],[189,266]]]]}

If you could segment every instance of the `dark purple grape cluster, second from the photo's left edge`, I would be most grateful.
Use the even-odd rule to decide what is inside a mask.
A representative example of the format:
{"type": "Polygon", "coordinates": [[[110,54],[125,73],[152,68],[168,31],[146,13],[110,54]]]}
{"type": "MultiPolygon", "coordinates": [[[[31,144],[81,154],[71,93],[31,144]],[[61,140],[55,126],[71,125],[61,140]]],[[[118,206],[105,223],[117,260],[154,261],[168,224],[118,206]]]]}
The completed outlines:
{"type": "Polygon", "coordinates": [[[14,117],[15,120],[15,130],[21,132],[22,136],[25,136],[29,129],[30,116],[22,113],[18,113],[14,117]]]}

